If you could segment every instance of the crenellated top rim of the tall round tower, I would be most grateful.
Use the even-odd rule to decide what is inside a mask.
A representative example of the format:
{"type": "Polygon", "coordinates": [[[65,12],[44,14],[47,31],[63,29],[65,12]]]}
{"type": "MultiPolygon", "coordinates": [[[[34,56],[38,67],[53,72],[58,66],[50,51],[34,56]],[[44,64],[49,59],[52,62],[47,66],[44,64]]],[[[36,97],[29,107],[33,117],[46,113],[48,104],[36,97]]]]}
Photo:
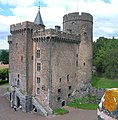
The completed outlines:
{"type": "Polygon", "coordinates": [[[89,13],[84,13],[84,12],[82,12],[81,14],[79,12],[74,12],[63,16],[63,22],[68,22],[73,20],[93,22],[93,16],[89,13]]]}

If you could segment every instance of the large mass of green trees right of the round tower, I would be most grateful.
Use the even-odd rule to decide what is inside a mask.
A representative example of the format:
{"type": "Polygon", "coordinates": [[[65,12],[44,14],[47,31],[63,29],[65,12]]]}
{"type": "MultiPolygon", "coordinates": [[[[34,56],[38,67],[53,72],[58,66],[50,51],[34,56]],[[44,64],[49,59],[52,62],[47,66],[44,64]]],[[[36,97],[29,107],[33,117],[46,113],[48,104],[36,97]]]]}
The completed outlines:
{"type": "Polygon", "coordinates": [[[100,37],[93,43],[93,65],[107,78],[118,78],[118,39],[100,37]]]}

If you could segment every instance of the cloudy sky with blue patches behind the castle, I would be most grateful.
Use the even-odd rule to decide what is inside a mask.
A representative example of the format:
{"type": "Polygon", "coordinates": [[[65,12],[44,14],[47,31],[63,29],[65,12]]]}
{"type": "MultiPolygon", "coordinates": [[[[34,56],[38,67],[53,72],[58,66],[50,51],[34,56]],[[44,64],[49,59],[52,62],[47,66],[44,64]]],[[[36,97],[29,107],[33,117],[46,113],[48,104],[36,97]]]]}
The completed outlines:
{"type": "Polygon", "coordinates": [[[0,0],[0,49],[8,49],[11,24],[34,21],[39,1],[46,28],[62,26],[63,15],[69,12],[87,12],[94,18],[94,40],[118,37],[118,0],[0,0]]]}

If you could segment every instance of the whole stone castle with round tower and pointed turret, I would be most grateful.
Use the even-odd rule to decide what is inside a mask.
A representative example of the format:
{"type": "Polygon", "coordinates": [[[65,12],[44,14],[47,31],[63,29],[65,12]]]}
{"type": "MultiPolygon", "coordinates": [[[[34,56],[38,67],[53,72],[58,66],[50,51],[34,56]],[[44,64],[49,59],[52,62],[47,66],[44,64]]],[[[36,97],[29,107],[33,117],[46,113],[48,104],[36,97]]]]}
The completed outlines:
{"type": "Polygon", "coordinates": [[[72,96],[88,93],[92,76],[93,17],[74,12],[60,26],[45,29],[40,9],[34,22],[10,26],[9,84],[11,107],[44,116],[65,106],[72,96]]]}

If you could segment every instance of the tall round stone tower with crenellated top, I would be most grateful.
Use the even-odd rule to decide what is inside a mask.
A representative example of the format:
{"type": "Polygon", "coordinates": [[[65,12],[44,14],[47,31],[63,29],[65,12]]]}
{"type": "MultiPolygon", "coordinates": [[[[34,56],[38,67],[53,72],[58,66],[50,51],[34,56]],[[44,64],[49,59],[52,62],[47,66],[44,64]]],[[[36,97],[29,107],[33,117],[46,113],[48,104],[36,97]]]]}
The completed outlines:
{"type": "Polygon", "coordinates": [[[63,17],[63,31],[80,35],[78,46],[78,85],[92,77],[93,17],[88,13],[69,13],[63,17]]]}

